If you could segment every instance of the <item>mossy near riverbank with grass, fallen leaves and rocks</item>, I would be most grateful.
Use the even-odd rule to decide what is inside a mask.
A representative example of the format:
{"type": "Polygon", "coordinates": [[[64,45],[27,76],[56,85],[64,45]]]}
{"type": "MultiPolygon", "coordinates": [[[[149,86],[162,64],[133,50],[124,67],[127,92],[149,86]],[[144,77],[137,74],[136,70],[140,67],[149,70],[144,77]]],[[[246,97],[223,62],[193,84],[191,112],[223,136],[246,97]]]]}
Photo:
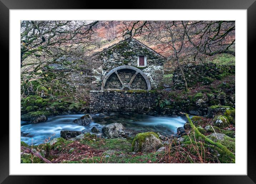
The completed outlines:
{"type": "MultiPolygon", "coordinates": [[[[80,133],[73,138],[54,138],[33,147],[24,142],[21,145],[34,149],[52,163],[235,162],[235,109],[212,106],[207,118],[187,118],[184,126],[178,128],[179,137],[165,137],[153,132],[127,136],[124,129],[118,127],[107,129],[108,136],[115,135],[113,138],[80,133]]],[[[43,163],[43,160],[23,154],[21,163],[43,163]]]]}

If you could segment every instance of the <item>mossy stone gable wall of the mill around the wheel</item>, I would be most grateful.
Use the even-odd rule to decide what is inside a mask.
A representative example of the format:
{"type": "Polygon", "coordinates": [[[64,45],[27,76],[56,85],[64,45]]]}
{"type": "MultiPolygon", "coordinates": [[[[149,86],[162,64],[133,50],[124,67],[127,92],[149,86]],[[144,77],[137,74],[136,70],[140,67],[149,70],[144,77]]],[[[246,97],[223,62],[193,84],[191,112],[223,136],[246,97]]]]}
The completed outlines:
{"type": "MultiPolygon", "coordinates": [[[[164,73],[164,57],[134,39],[122,41],[115,46],[99,52],[92,58],[92,61],[98,63],[98,68],[93,69],[95,80],[92,84],[94,85],[93,88],[95,90],[100,90],[105,75],[118,66],[129,65],[142,70],[148,77],[152,89],[159,86],[164,73]],[[138,67],[137,61],[139,55],[146,56],[146,67],[138,67]]],[[[132,73],[128,74],[128,76],[131,78],[132,73]]],[[[139,75],[136,76],[135,80],[138,80],[137,83],[141,81],[139,75]]],[[[114,86],[115,85],[118,86],[117,83],[115,83],[114,86]]]]}

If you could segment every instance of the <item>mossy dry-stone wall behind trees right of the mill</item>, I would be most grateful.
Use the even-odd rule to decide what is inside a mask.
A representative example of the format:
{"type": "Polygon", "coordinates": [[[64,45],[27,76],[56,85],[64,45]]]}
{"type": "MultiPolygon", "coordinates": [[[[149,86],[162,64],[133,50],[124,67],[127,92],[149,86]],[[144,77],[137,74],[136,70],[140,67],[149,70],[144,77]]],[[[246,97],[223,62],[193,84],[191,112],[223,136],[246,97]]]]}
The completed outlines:
{"type": "MultiPolygon", "coordinates": [[[[215,63],[188,64],[182,66],[182,68],[188,87],[195,85],[197,82],[211,83],[216,79],[221,80],[223,77],[235,73],[235,66],[216,65],[215,63]]],[[[184,88],[184,82],[178,68],[174,71],[172,79],[175,89],[184,88]]]]}

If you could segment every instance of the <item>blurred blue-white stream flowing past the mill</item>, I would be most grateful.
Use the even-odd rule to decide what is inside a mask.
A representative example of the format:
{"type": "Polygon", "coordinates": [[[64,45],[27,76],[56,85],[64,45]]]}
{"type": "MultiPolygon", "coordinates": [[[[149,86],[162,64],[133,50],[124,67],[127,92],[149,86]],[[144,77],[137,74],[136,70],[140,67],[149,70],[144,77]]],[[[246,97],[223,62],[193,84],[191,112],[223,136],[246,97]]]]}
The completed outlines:
{"type": "Polygon", "coordinates": [[[127,129],[136,132],[159,132],[164,136],[171,136],[177,133],[177,128],[182,127],[187,119],[184,116],[148,116],[142,114],[114,114],[114,116],[102,116],[101,114],[91,114],[93,122],[88,126],[80,126],[73,123],[74,119],[82,117],[84,114],[69,114],[49,117],[46,122],[28,124],[21,121],[21,141],[31,145],[44,143],[45,139],[60,137],[61,130],[87,131],[91,132],[96,126],[102,134],[101,128],[110,123],[122,123],[127,129]]]}

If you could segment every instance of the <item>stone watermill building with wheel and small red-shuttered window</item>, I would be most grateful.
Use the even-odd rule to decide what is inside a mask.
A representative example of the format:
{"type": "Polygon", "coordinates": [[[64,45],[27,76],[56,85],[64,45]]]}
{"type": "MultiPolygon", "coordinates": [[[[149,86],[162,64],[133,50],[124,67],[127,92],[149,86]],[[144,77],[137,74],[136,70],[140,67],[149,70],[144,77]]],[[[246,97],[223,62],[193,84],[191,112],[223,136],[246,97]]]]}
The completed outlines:
{"type": "Polygon", "coordinates": [[[136,39],[126,39],[96,53],[93,62],[94,90],[90,91],[90,111],[148,111],[161,85],[165,58],[136,39]]]}

